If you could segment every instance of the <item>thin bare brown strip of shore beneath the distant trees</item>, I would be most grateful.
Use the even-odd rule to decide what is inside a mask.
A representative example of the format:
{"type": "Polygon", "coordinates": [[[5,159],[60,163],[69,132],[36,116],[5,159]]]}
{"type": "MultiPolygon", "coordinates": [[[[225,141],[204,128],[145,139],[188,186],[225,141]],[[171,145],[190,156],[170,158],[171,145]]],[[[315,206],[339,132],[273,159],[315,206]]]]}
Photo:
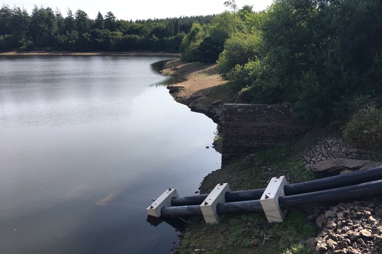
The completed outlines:
{"type": "Polygon", "coordinates": [[[0,52],[0,55],[131,55],[131,56],[180,56],[180,53],[149,52],[149,51],[94,51],[94,52],[72,52],[72,51],[8,51],[0,52]]]}

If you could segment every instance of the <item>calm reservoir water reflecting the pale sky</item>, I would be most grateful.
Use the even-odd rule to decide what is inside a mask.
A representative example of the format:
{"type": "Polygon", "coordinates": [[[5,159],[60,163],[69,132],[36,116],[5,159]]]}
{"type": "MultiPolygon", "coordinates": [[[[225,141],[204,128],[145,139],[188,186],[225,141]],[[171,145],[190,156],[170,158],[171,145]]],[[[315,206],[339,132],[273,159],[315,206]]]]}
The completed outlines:
{"type": "Polygon", "coordinates": [[[220,167],[216,125],[176,103],[166,57],[0,57],[0,253],[169,253],[146,207],[220,167]]]}

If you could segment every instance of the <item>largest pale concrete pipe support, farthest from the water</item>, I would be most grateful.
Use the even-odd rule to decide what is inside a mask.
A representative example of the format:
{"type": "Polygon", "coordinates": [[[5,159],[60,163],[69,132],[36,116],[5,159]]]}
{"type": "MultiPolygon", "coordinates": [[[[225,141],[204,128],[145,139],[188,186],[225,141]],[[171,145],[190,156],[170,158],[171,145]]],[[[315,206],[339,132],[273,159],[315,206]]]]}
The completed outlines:
{"type": "Polygon", "coordinates": [[[267,216],[269,223],[282,222],[286,211],[282,211],[278,204],[278,198],[284,197],[284,185],[288,181],[285,176],[273,177],[265,188],[263,196],[260,199],[261,206],[267,216]]]}

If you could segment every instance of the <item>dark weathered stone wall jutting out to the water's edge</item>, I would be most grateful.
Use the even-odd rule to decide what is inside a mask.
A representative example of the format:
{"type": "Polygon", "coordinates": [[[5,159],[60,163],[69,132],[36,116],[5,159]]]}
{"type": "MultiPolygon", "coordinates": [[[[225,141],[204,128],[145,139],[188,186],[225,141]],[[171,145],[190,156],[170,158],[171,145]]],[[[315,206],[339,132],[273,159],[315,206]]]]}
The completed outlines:
{"type": "Polygon", "coordinates": [[[240,155],[292,141],[311,125],[292,118],[285,105],[224,104],[221,164],[240,155]]]}

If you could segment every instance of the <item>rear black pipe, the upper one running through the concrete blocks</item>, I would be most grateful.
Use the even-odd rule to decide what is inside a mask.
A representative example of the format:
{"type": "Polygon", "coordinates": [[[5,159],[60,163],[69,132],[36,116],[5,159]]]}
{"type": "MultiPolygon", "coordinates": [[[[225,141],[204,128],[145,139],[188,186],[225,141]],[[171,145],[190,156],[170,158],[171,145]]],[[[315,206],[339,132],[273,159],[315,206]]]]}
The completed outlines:
{"type": "MultiPolygon", "coordinates": [[[[304,193],[317,192],[319,190],[332,189],[336,187],[349,186],[363,182],[382,179],[382,166],[346,173],[337,176],[326,177],[301,183],[294,183],[284,186],[285,196],[292,196],[304,193]]],[[[241,190],[238,192],[227,192],[226,202],[238,202],[260,199],[265,189],[241,190]]],[[[174,197],[171,199],[172,206],[200,205],[207,198],[208,194],[198,196],[174,197]]]]}

